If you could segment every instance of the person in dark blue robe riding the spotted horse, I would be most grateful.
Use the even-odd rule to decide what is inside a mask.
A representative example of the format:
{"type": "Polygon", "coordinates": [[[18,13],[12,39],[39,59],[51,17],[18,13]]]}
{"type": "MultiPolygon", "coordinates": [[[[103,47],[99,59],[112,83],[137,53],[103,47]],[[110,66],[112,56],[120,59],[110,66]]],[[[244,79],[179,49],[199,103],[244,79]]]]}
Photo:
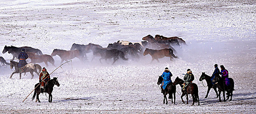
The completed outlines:
{"type": "Polygon", "coordinates": [[[20,54],[18,55],[18,59],[20,60],[19,64],[18,64],[20,72],[24,72],[24,69],[22,67],[24,67],[27,64],[27,62],[26,62],[27,58],[28,58],[27,53],[25,52],[25,49],[23,48],[21,50],[20,54]]]}

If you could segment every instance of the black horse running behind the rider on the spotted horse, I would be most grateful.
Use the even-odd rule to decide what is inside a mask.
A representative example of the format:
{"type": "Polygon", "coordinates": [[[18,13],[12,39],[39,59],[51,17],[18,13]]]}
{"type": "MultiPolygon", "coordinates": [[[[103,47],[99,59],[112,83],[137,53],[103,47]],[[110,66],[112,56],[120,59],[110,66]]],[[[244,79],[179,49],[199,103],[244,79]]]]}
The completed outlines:
{"type": "Polygon", "coordinates": [[[18,47],[14,47],[14,46],[5,46],[3,53],[6,53],[7,51],[8,51],[8,53],[11,53],[13,55],[13,58],[12,58],[12,60],[13,60],[15,57],[18,58],[18,55],[20,54],[22,48],[25,48],[25,52],[33,52],[33,53],[36,53],[39,55],[43,55],[42,51],[39,49],[34,49],[31,47],[18,48],[18,47]]]}

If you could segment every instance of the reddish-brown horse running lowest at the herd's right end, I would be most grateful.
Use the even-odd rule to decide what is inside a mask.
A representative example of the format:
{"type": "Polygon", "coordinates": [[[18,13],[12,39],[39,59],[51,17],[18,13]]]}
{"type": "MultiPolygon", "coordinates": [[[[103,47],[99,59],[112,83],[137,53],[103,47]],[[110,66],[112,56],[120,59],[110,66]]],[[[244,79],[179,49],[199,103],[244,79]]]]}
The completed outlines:
{"type": "Polygon", "coordinates": [[[151,50],[151,49],[147,49],[144,51],[143,55],[147,55],[150,54],[152,56],[152,60],[151,63],[156,60],[158,63],[159,62],[159,58],[163,58],[163,57],[170,57],[170,60],[172,61],[172,58],[178,58],[177,56],[175,56],[173,54],[173,50],[172,49],[162,49],[162,50],[151,50]]]}

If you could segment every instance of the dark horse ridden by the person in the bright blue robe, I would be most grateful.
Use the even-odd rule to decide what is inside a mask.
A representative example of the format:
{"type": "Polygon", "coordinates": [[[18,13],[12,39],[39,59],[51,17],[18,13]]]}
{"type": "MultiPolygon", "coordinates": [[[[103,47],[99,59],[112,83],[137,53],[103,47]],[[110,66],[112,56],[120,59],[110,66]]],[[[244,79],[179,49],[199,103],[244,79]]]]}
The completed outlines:
{"type": "MultiPolygon", "coordinates": [[[[163,81],[163,77],[159,76],[158,81],[157,81],[157,85],[160,85],[163,81]]],[[[161,89],[163,89],[163,87],[161,87],[161,89]]],[[[176,86],[173,85],[173,83],[169,83],[166,85],[165,90],[163,91],[164,94],[164,100],[166,100],[166,104],[168,104],[166,95],[169,94],[169,99],[172,99],[172,103],[175,104],[175,93],[176,93],[176,86]],[[173,102],[173,95],[174,95],[174,102],[173,102]]],[[[165,103],[165,101],[163,102],[165,103]]]]}

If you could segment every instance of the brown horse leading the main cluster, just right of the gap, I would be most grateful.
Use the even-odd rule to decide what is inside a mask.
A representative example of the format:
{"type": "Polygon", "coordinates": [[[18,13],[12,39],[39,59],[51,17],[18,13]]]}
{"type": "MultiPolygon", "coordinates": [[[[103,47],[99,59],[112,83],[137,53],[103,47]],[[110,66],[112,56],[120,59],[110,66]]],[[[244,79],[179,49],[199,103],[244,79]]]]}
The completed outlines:
{"type": "Polygon", "coordinates": [[[80,54],[79,50],[59,50],[54,49],[51,53],[51,56],[59,55],[61,57],[61,64],[65,60],[66,62],[68,60],[74,59],[75,57],[78,58],[80,61],[83,61],[83,57],[80,54]]]}

